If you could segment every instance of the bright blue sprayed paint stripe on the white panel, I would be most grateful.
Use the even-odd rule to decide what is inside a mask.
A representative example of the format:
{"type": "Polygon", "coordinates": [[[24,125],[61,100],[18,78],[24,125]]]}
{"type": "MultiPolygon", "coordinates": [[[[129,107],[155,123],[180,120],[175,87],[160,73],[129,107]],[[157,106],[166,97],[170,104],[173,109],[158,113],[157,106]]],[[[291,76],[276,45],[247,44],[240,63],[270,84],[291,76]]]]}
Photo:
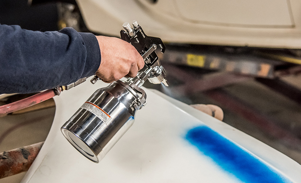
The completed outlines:
{"type": "Polygon", "coordinates": [[[206,126],[191,129],[186,139],[222,169],[246,183],[291,183],[259,159],[206,126]]]}

